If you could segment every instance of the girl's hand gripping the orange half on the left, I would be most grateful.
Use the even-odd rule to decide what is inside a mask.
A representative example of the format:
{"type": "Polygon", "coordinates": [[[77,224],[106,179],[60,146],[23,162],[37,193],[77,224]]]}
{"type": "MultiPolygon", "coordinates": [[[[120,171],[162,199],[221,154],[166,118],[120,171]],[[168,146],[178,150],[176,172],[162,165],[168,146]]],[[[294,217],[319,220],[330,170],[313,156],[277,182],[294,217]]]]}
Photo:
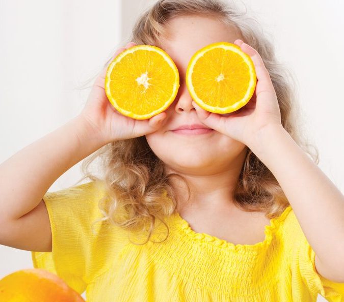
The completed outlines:
{"type": "MultiPolygon", "coordinates": [[[[135,45],[134,42],[130,42],[125,48],[119,48],[110,63],[122,51],[135,45]]],[[[166,113],[161,112],[149,119],[138,120],[121,114],[112,106],[104,89],[105,75],[110,63],[94,81],[87,103],[80,113],[80,116],[90,126],[90,131],[94,131],[94,135],[98,136],[105,144],[116,140],[143,136],[156,131],[164,124],[161,119],[163,120],[166,117],[166,113]]]]}

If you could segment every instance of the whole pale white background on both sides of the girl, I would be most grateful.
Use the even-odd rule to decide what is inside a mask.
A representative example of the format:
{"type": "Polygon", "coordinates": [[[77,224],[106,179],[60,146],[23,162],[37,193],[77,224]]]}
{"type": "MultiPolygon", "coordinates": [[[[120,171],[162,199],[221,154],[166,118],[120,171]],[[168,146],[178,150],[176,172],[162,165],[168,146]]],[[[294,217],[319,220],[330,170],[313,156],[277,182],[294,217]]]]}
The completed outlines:
{"type": "MultiPolygon", "coordinates": [[[[125,46],[138,14],[154,2],[0,1],[0,163],[80,113],[93,81],[77,88],[125,46]]],[[[319,148],[319,166],[343,192],[343,2],[243,3],[275,44],[280,62],[296,75],[302,122],[319,148]]],[[[49,191],[74,184],[79,168],[64,173],[49,191]]],[[[0,279],[29,267],[29,251],[0,246],[0,279]]]]}

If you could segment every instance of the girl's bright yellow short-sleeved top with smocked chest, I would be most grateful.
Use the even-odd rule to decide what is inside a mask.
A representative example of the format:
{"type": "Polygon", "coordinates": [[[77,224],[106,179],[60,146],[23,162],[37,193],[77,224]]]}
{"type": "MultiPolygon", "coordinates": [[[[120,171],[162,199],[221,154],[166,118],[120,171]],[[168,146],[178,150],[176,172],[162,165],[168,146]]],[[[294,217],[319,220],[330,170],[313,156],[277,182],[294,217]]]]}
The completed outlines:
{"type": "MultiPolygon", "coordinates": [[[[177,213],[145,245],[101,221],[93,182],[47,192],[52,252],[31,252],[34,267],[57,274],[88,302],[344,301],[344,283],[317,274],[314,251],[288,206],[265,227],[265,239],[233,245],[193,231],[177,213]],[[163,234],[159,236],[159,234],[163,234]]],[[[142,237],[144,238],[144,236],[142,237]]]]}

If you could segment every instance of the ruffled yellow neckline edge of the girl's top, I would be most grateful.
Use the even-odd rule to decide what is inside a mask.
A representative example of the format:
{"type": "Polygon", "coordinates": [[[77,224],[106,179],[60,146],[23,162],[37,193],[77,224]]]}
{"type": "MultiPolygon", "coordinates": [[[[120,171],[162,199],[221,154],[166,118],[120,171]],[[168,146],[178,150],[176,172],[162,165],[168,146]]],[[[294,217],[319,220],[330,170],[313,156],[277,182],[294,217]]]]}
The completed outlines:
{"type": "Polygon", "coordinates": [[[289,205],[287,206],[280,216],[270,219],[270,224],[266,225],[264,228],[265,238],[263,241],[260,241],[256,244],[249,245],[249,244],[236,244],[225,240],[220,239],[216,236],[207,234],[207,233],[198,233],[195,232],[189,225],[189,223],[184,220],[178,212],[174,212],[171,216],[174,221],[174,225],[176,228],[184,235],[188,236],[191,240],[197,241],[199,243],[208,244],[211,246],[218,247],[220,249],[228,249],[234,252],[252,252],[258,251],[264,247],[268,247],[271,243],[274,233],[280,226],[280,224],[285,220],[288,213],[292,210],[292,207],[289,205]]]}

